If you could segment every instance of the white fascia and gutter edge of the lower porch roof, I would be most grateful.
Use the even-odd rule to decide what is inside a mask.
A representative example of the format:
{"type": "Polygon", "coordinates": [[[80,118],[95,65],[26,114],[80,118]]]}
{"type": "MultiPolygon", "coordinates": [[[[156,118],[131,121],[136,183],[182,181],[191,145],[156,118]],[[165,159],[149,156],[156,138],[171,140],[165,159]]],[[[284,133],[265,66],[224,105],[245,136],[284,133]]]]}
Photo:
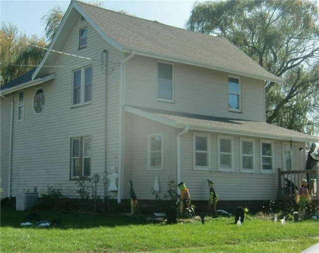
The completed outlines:
{"type": "MultiPolygon", "coordinates": [[[[211,125],[205,125],[205,124],[197,124],[193,123],[189,120],[188,122],[181,122],[178,120],[172,120],[163,116],[159,116],[157,113],[150,113],[146,112],[137,108],[133,108],[130,106],[124,107],[126,112],[144,117],[146,119],[154,120],[156,122],[175,127],[175,128],[181,128],[184,129],[186,126],[189,130],[196,130],[196,131],[205,131],[205,132],[215,132],[220,134],[231,134],[231,135],[241,135],[241,136],[247,136],[247,137],[255,137],[255,138],[264,138],[264,139],[273,139],[273,140],[285,140],[285,141],[300,141],[300,142],[318,142],[319,137],[306,135],[303,136],[298,135],[298,132],[295,132],[296,135],[292,134],[294,131],[289,131],[287,134],[282,133],[275,133],[275,132],[262,132],[258,130],[252,130],[252,129],[236,129],[236,123],[229,123],[230,125],[227,127],[217,127],[217,126],[211,126],[211,125]]],[[[263,123],[267,124],[267,123],[263,123]]]]}

